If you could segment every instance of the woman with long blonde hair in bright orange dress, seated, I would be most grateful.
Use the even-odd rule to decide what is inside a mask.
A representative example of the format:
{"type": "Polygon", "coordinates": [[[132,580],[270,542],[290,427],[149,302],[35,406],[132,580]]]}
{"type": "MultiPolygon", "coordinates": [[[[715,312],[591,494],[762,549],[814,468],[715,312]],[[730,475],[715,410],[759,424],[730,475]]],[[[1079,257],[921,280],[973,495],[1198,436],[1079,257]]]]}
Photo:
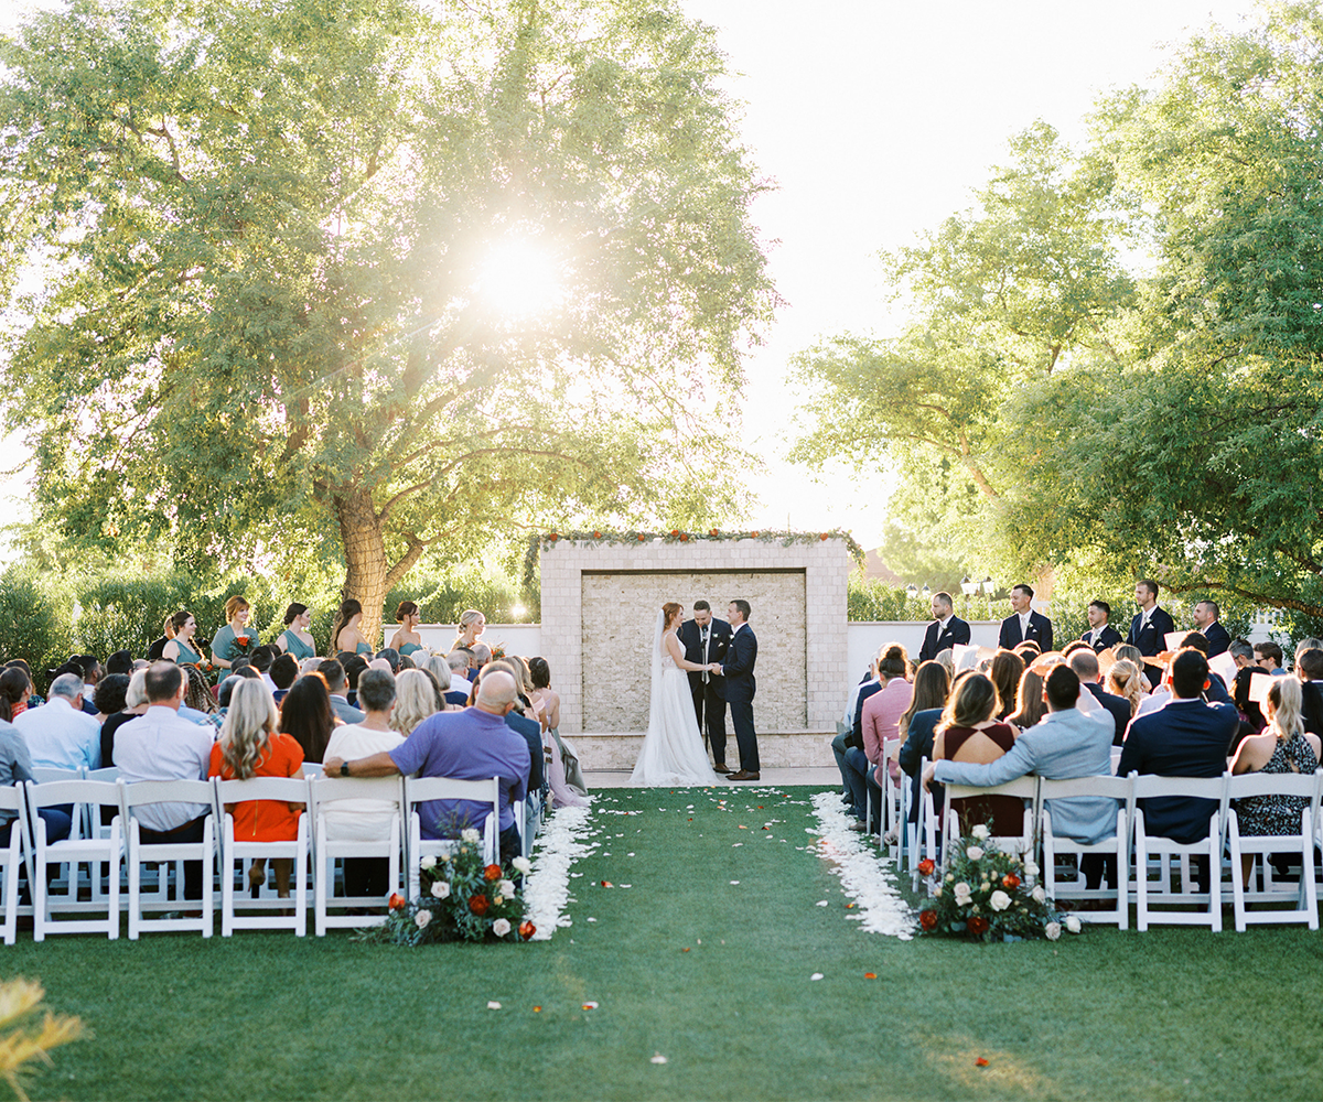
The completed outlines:
{"type": "MultiPolygon", "coordinates": [[[[230,710],[225,714],[221,737],[212,746],[209,775],[222,781],[247,781],[250,777],[302,777],[303,747],[288,734],[277,730],[279,714],[267,687],[245,679],[234,687],[230,710]]],[[[302,803],[282,800],[243,800],[228,803],[225,811],[234,816],[235,841],[292,841],[299,836],[302,803]]],[[[290,897],[290,873],[294,861],[277,857],[275,890],[290,897]]],[[[258,859],[249,868],[249,884],[266,882],[266,860],[258,859]]]]}

